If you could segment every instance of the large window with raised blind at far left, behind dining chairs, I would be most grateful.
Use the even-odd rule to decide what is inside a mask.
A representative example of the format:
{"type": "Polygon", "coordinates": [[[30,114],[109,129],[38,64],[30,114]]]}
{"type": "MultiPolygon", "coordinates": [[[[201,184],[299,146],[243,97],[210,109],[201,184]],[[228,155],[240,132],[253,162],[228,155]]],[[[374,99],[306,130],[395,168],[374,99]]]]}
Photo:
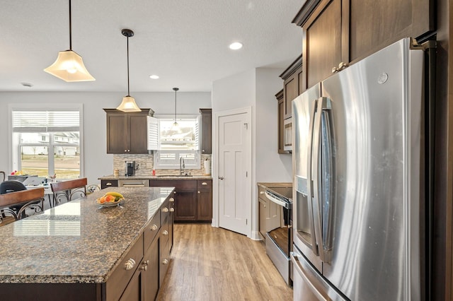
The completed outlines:
{"type": "Polygon", "coordinates": [[[59,179],[81,176],[81,108],[13,108],[13,170],[59,179]]]}

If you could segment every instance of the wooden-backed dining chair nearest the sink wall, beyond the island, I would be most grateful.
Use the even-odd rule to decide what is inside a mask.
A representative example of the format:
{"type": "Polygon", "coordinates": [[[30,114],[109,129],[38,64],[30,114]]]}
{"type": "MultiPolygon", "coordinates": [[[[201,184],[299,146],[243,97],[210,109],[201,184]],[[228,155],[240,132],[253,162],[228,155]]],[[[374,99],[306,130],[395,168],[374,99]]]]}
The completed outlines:
{"type": "Polygon", "coordinates": [[[54,194],[54,206],[59,205],[64,199],[71,201],[86,196],[86,184],[86,177],[50,183],[50,189],[54,194]]]}

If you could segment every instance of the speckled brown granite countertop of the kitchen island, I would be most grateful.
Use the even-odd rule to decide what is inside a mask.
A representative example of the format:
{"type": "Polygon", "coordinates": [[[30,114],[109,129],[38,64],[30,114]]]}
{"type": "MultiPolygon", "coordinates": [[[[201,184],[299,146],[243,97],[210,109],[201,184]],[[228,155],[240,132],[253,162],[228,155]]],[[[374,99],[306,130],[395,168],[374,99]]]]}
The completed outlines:
{"type": "Polygon", "coordinates": [[[0,283],[105,283],[173,187],[110,187],[0,227],[0,283]],[[101,207],[106,191],[123,208],[101,207]]]}

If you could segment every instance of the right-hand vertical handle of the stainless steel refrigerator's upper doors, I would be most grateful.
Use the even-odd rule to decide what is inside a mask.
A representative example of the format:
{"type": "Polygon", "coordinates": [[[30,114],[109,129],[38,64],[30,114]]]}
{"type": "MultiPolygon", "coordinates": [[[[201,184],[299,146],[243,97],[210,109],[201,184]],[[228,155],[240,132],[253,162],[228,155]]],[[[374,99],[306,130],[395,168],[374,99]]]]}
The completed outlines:
{"type": "MultiPolygon", "coordinates": [[[[324,189],[324,187],[319,183],[319,170],[321,169],[321,165],[319,164],[319,155],[322,151],[321,148],[321,135],[322,135],[322,119],[323,119],[323,112],[326,110],[331,110],[331,100],[325,97],[321,97],[317,101],[316,105],[316,114],[314,117],[314,132],[313,132],[313,146],[312,146],[312,160],[311,160],[311,169],[313,175],[313,216],[314,216],[314,231],[316,233],[316,243],[318,244],[319,248],[319,257],[323,262],[329,262],[329,257],[326,250],[328,249],[327,246],[324,245],[325,237],[327,233],[324,233],[323,230],[323,223],[326,223],[326,220],[323,220],[323,191],[320,189],[324,189]]],[[[321,179],[322,181],[322,179],[321,179]]],[[[330,195],[330,194],[327,194],[330,195]]],[[[329,205],[330,201],[327,202],[329,205]]],[[[330,206],[328,206],[330,208],[330,206]]],[[[328,218],[330,214],[325,216],[324,218],[328,218]]],[[[327,227],[328,228],[328,227],[327,227]]]]}

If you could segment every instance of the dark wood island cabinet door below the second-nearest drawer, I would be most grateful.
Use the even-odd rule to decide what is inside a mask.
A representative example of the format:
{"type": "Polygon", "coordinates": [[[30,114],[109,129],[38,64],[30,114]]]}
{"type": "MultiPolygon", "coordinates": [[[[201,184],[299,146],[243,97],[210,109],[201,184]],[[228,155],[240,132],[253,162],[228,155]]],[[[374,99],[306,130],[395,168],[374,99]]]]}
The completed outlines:
{"type": "Polygon", "coordinates": [[[147,270],[142,271],[143,300],[156,300],[159,291],[159,242],[160,238],[157,235],[143,257],[143,262],[147,266],[147,270]]]}

